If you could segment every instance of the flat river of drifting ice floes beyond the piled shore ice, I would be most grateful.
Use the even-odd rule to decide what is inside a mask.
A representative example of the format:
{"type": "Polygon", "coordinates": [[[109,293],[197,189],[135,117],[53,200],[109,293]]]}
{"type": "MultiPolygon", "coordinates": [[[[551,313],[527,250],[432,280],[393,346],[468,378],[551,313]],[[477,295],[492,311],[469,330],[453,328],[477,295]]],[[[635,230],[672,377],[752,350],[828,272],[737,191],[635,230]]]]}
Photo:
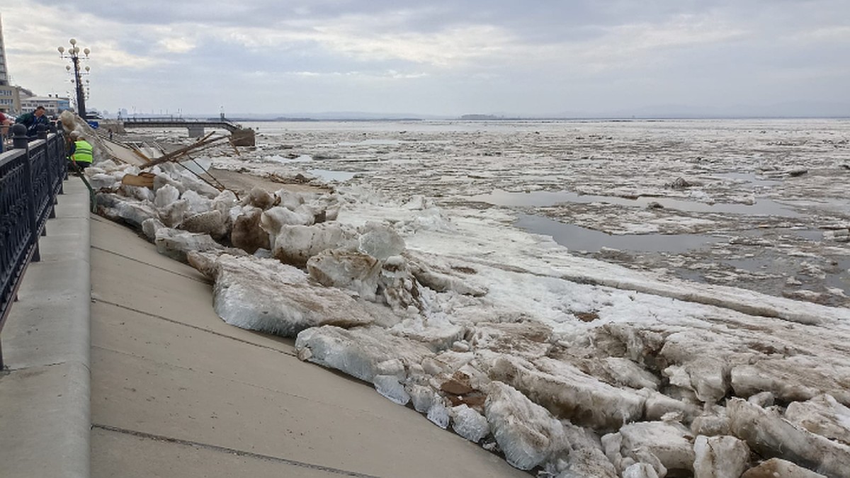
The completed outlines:
{"type": "Polygon", "coordinates": [[[850,304],[850,120],[249,122],[263,169],[507,208],[571,253],[850,304]],[[834,240],[833,230],[839,231],[834,240]]]}

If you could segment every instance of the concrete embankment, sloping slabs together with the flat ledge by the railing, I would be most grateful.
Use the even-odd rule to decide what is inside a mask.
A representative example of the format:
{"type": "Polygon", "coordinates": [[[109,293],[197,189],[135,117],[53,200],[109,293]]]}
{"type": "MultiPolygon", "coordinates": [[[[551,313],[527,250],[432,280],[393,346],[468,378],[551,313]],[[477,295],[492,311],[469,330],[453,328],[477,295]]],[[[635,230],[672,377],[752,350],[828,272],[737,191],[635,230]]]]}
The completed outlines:
{"type": "Polygon", "coordinates": [[[2,335],[0,476],[528,476],[292,340],[228,326],[200,274],[65,188],[2,335]]]}

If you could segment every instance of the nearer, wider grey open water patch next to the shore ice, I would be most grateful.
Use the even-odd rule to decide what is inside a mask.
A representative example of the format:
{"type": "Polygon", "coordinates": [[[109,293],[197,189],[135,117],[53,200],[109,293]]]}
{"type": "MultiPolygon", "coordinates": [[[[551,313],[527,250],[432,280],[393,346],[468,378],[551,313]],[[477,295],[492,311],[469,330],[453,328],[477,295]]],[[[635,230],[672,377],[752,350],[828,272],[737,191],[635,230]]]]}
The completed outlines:
{"type": "Polygon", "coordinates": [[[687,253],[717,242],[704,234],[607,234],[533,214],[519,214],[514,223],[527,232],[552,236],[555,242],[576,251],[596,253],[602,248],[643,253],[687,253]]]}

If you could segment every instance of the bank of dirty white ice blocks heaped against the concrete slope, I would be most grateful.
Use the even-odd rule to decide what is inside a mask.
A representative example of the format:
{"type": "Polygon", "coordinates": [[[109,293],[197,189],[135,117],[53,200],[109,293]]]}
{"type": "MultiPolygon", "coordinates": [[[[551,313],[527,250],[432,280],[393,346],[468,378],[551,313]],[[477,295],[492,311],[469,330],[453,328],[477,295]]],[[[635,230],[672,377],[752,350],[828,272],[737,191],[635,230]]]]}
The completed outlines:
{"type": "MultiPolygon", "coordinates": [[[[370,382],[519,469],[850,469],[845,310],[813,309],[829,321],[754,316],[723,300],[570,281],[564,265],[575,276],[615,269],[546,265],[527,235],[449,219],[422,198],[393,205],[364,191],[255,189],[237,200],[168,163],[151,168],[152,188],[120,184],[138,172],[88,169],[99,213],[210,277],[225,322],[297,337],[302,360],[370,382]]],[[[622,280],[639,282],[630,274],[622,280]]],[[[742,300],[758,310],[760,297],[742,300]]]]}

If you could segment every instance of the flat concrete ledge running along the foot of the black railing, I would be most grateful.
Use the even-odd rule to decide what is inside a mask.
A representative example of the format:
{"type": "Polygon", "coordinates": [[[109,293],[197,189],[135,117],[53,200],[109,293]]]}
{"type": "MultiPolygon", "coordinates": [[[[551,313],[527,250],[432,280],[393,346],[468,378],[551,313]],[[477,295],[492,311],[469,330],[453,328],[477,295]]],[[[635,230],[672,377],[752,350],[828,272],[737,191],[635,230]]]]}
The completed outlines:
{"type": "Polygon", "coordinates": [[[3,327],[0,476],[89,475],[89,213],[65,181],[3,327]]]}

